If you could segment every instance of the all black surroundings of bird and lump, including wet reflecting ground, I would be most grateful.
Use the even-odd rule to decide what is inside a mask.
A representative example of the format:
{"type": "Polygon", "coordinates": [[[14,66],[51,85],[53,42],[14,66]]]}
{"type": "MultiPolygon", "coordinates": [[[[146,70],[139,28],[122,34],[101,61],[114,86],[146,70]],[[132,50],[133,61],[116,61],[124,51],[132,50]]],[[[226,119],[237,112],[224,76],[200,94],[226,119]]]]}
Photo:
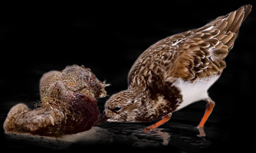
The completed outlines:
{"type": "MultiPolygon", "coordinates": [[[[153,132],[142,130],[154,122],[107,122],[87,132],[57,139],[5,134],[2,128],[12,106],[25,103],[34,109],[35,103],[40,101],[39,80],[44,73],[63,70],[67,65],[84,64],[99,80],[111,83],[112,86],[106,88],[111,96],[126,90],[130,67],[149,45],[172,34],[199,28],[218,15],[248,3],[253,5],[243,2],[229,8],[225,5],[207,5],[207,8],[195,5],[191,8],[192,4],[184,4],[181,9],[188,12],[186,18],[175,10],[164,8],[161,13],[153,13],[154,9],[145,9],[139,14],[130,9],[118,9],[119,13],[101,10],[100,15],[34,14],[6,18],[0,24],[0,41],[5,53],[0,77],[2,146],[17,151],[149,148],[149,151],[169,152],[255,152],[254,11],[242,25],[235,47],[226,59],[228,67],[208,91],[216,105],[205,123],[205,137],[197,136],[199,130],[196,129],[205,112],[203,101],[174,112],[169,122],[153,132]],[[149,10],[151,13],[147,14],[149,10]],[[157,15],[161,17],[156,18],[157,15]],[[199,15],[202,20],[195,20],[199,15]]],[[[100,112],[108,98],[98,99],[100,112]]]]}

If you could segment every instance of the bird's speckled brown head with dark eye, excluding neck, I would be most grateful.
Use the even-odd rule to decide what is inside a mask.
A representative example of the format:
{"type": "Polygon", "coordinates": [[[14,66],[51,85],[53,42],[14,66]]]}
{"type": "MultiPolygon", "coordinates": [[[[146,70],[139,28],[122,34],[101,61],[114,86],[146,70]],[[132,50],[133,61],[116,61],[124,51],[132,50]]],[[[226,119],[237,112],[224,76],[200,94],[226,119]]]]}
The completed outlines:
{"type": "Polygon", "coordinates": [[[103,116],[110,122],[140,122],[149,99],[139,90],[125,90],[107,100],[103,116]]]}

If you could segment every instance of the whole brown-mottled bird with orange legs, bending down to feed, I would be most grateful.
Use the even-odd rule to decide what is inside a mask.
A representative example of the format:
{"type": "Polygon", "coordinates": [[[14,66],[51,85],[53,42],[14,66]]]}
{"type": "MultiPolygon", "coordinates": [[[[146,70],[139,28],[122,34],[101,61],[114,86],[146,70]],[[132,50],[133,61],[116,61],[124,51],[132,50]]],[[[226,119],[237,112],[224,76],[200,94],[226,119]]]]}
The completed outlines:
{"type": "Polygon", "coordinates": [[[162,118],[144,129],[153,130],[169,121],[172,112],[204,99],[207,104],[198,125],[201,129],[215,106],[207,90],[226,67],[224,59],[251,8],[241,6],[202,28],[166,37],[150,46],[133,64],[128,90],[107,100],[101,120],[149,122],[162,118]]]}

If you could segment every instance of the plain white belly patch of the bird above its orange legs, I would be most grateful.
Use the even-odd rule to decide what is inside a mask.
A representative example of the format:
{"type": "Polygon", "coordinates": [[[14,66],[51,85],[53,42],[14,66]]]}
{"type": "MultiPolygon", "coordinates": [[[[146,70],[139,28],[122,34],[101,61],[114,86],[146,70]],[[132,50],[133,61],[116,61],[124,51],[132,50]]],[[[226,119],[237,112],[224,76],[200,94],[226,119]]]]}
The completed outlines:
{"type": "Polygon", "coordinates": [[[194,83],[183,81],[182,79],[176,80],[172,86],[178,87],[182,92],[182,103],[176,109],[176,111],[188,106],[191,103],[207,98],[207,90],[212,86],[213,83],[215,83],[216,80],[218,80],[218,77],[219,76],[202,78],[195,80],[194,83]]]}

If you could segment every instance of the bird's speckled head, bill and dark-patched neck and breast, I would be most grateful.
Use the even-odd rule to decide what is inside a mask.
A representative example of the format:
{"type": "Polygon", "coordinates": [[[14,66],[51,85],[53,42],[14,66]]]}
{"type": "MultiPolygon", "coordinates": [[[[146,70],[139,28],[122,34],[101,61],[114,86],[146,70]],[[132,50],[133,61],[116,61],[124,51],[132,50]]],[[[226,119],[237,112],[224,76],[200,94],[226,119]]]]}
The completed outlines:
{"type": "Polygon", "coordinates": [[[180,97],[176,99],[175,95],[169,97],[162,93],[152,93],[150,90],[137,90],[136,88],[121,91],[107,100],[105,110],[96,125],[106,121],[149,122],[159,119],[176,108],[180,97]],[[175,105],[172,106],[171,102],[175,102],[175,105]]]}

